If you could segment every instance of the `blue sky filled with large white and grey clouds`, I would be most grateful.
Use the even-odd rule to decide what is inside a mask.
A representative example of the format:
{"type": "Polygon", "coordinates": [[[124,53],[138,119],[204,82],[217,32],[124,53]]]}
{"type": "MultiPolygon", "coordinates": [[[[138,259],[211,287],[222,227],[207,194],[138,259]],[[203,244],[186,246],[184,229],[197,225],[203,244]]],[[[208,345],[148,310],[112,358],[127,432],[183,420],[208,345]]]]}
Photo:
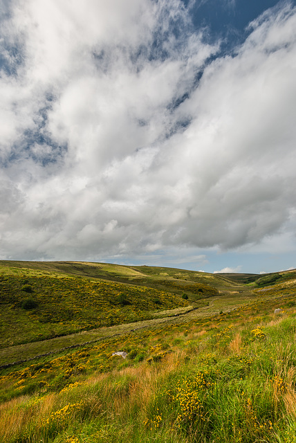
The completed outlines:
{"type": "Polygon", "coordinates": [[[296,4],[0,0],[0,259],[296,268],[296,4]]]}

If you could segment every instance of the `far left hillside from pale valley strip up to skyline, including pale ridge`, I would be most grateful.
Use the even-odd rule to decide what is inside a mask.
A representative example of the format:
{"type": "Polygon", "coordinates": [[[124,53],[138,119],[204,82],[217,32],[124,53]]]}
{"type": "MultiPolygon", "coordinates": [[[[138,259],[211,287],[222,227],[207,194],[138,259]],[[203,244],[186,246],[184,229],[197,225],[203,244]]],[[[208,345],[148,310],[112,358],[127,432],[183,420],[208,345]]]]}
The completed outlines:
{"type": "Polygon", "coordinates": [[[147,320],[218,293],[203,276],[163,274],[115,264],[0,262],[0,347],[147,320]]]}

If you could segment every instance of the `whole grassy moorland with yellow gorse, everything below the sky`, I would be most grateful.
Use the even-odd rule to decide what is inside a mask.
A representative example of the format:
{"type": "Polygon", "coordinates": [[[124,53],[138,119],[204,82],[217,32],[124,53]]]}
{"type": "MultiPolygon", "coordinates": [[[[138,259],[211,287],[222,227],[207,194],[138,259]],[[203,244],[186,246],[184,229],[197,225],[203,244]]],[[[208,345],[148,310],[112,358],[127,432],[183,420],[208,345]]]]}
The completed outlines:
{"type": "Polygon", "coordinates": [[[295,271],[0,277],[1,443],[296,442],[295,271]]]}

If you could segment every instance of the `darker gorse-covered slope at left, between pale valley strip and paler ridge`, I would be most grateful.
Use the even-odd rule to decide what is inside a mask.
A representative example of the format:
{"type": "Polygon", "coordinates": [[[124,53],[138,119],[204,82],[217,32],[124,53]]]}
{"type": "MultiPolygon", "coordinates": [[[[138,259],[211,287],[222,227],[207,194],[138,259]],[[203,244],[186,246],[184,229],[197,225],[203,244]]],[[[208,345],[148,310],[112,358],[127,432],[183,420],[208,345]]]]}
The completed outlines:
{"type": "Polygon", "coordinates": [[[0,294],[1,347],[145,320],[189,304],[168,291],[61,275],[3,275],[0,294]]]}

